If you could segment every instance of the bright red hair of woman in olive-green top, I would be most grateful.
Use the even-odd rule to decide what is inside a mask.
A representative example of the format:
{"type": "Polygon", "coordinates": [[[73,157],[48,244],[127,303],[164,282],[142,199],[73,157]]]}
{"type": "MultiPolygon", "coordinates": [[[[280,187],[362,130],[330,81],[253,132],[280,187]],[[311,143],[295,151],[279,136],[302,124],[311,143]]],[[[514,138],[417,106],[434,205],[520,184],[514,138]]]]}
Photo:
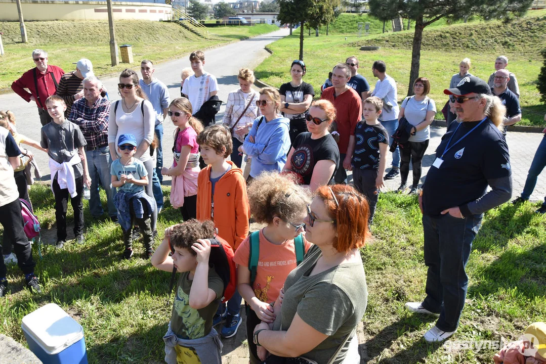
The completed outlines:
{"type": "Polygon", "coordinates": [[[324,202],[330,217],[335,220],[337,237],[332,246],[338,252],[345,253],[351,249],[363,247],[368,234],[368,216],[370,215],[370,206],[364,195],[346,184],[321,186],[316,194],[324,202]]]}

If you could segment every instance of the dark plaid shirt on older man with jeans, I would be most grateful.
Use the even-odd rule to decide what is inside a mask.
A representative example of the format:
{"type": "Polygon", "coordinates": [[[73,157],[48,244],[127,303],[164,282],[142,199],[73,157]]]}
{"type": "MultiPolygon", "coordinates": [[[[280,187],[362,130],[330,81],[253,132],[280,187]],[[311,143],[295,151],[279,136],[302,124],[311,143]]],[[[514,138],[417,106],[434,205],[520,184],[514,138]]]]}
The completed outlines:
{"type": "Polygon", "coordinates": [[[87,141],[87,147],[108,145],[110,105],[110,100],[103,97],[99,97],[91,106],[87,106],[87,100],[83,97],[72,105],[68,120],[80,127],[87,141]]]}

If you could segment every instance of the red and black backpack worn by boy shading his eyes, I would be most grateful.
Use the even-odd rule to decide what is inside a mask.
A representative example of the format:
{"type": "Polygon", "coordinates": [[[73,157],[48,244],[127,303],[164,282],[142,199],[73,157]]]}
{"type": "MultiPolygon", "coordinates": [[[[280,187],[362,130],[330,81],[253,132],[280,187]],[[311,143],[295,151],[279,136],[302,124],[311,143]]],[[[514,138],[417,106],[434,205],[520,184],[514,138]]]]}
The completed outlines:
{"type": "MultiPolygon", "coordinates": [[[[218,235],[209,240],[211,242],[209,265],[214,266],[214,270],[224,283],[222,302],[225,303],[232,298],[237,287],[237,268],[235,266],[235,261],[233,261],[233,256],[235,255],[235,253],[233,252],[233,248],[228,244],[228,242],[223,240],[218,235]]],[[[171,246],[170,241],[169,247],[171,248],[171,253],[174,254],[174,248],[171,246]]],[[[171,275],[169,283],[170,288],[167,305],[169,305],[170,303],[170,294],[173,292],[175,276],[176,267],[173,267],[173,273],[171,275]]]]}

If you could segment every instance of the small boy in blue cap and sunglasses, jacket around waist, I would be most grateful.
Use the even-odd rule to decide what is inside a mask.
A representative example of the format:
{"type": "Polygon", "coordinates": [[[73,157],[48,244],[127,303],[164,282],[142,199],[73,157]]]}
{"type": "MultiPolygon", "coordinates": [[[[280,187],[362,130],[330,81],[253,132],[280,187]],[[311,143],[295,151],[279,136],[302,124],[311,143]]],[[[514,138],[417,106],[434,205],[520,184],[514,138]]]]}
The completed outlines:
{"type": "Polygon", "coordinates": [[[114,205],[117,208],[117,220],[123,231],[125,243],[123,258],[130,259],[133,256],[131,228],[136,223],[143,232],[146,258],[150,259],[153,255],[150,216],[155,204],[144,190],[144,186],[148,184],[148,172],[138,158],[133,158],[136,153],[136,138],[133,134],[120,135],[117,148],[121,157],[112,162],[110,174],[112,187],[117,188],[114,205]]]}

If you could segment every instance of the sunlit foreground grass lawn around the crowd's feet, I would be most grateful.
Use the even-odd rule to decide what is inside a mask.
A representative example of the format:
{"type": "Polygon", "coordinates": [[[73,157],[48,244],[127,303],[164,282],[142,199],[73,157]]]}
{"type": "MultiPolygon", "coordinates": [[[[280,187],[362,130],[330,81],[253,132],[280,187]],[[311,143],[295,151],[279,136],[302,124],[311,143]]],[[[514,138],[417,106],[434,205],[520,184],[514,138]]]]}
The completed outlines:
{"type": "MultiPolygon", "coordinates": [[[[164,194],[168,201],[167,187],[164,194]]],[[[49,187],[35,184],[31,199],[43,238],[55,237],[49,187]]],[[[104,194],[102,200],[105,205],[104,194]]],[[[505,204],[486,214],[468,262],[467,304],[453,340],[517,339],[528,324],[546,317],[546,218],[533,213],[536,207],[505,204]]],[[[134,258],[122,261],[120,227],[91,220],[87,202],[84,212],[85,244],[69,242],[62,250],[45,246],[43,260],[33,247],[41,295],[22,288],[16,266],[8,269],[11,293],[0,299],[0,333],[25,343],[23,316],[55,302],[84,327],[90,363],[162,363],[162,336],[173,299],[167,304],[169,273],[140,258],[144,248],[139,242],[134,258]]],[[[158,219],[160,236],[180,220],[167,202],[158,219]]],[[[364,317],[369,363],[491,362],[492,349],[476,353],[426,345],[420,336],[434,321],[403,309],[407,300],[423,299],[426,280],[416,198],[381,194],[372,232],[373,240],[362,250],[369,287],[364,317]]]]}

